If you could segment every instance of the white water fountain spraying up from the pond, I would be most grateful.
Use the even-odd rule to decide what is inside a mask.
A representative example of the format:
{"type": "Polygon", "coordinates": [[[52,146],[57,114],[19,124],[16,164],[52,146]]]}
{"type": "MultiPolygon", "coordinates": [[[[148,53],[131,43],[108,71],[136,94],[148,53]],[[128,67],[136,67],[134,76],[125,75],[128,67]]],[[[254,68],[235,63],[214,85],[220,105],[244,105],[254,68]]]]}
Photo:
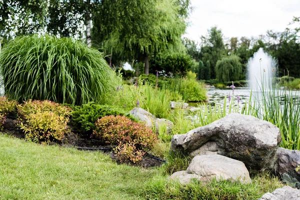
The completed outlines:
{"type": "Polygon", "coordinates": [[[259,48],[248,60],[248,80],[252,90],[261,90],[262,86],[271,86],[275,72],[276,61],[259,48]]]}

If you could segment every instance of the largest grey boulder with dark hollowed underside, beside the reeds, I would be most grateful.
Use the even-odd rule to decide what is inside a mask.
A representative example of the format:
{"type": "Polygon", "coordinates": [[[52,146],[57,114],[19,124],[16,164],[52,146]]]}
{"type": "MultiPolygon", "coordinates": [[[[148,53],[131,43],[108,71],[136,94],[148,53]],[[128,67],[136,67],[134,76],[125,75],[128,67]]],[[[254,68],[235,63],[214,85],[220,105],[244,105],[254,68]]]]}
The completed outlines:
{"type": "Polygon", "coordinates": [[[250,172],[273,169],[280,130],[250,115],[229,114],[185,134],[174,135],[171,150],[191,156],[220,154],[242,161],[250,172]]]}

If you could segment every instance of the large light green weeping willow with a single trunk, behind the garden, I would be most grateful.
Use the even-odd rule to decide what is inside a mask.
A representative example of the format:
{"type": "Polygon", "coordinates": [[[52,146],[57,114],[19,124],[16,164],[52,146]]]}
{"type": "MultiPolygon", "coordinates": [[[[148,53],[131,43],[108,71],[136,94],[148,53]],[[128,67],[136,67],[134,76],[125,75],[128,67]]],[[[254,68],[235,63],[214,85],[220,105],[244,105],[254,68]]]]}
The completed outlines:
{"type": "MultiPolygon", "coordinates": [[[[184,17],[173,0],[119,0],[112,6],[103,1],[102,8],[109,13],[114,26],[101,29],[106,52],[121,54],[124,59],[144,59],[144,72],[149,72],[149,56],[163,51],[183,51],[181,35],[185,31],[184,17]],[[117,24],[117,25],[115,25],[117,24]]],[[[93,33],[94,34],[94,33],[93,33]]]]}

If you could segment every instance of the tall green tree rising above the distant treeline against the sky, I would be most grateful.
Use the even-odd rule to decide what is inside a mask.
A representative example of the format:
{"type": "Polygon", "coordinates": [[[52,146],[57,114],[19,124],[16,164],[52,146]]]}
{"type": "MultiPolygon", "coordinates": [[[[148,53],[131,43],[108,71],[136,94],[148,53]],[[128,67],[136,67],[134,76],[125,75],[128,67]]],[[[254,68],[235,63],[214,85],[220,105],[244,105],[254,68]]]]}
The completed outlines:
{"type": "Polygon", "coordinates": [[[215,78],[215,64],[217,60],[226,55],[225,45],[223,43],[222,31],[216,26],[208,30],[208,36],[202,36],[201,57],[203,62],[209,60],[210,77],[215,78]]]}

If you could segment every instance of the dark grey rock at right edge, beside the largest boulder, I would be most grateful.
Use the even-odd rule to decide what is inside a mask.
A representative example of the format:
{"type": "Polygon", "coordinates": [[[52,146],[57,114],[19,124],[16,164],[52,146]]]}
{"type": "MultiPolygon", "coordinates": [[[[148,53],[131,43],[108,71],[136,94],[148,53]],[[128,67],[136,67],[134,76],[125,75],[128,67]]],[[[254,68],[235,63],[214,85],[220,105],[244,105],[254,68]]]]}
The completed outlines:
{"type": "Polygon", "coordinates": [[[300,188],[300,150],[289,150],[279,147],[275,173],[284,182],[300,188]]]}

